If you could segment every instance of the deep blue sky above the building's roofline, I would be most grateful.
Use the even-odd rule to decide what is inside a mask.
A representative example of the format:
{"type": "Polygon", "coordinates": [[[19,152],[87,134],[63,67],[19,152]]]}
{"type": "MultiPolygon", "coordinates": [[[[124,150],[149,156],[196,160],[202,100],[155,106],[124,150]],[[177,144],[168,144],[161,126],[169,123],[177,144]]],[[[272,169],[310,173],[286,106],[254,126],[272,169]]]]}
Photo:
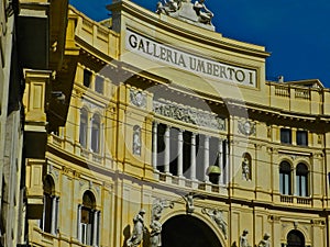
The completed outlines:
{"type": "MultiPolygon", "coordinates": [[[[158,0],[133,0],[155,11],[158,0]]],[[[193,0],[194,1],[194,0],[193,0]]],[[[91,19],[109,18],[111,0],[70,0],[91,19]]],[[[330,0],[206,0],[223,36],[266,47],[266,79],[319,79],[330,88],[330,0]]]]}

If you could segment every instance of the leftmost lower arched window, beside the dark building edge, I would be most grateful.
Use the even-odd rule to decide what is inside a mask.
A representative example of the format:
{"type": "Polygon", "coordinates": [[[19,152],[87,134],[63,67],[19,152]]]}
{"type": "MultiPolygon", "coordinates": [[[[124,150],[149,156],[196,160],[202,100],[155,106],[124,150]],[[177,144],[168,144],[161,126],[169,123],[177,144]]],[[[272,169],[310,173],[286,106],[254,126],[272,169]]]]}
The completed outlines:
{"type": "Polygon", "coordinates": [[[53,178],[47,175],[44,180],[44,211],[41,220],[41,229],[53,235],[57,232],[58,197],[55,197],[53,178]]]}

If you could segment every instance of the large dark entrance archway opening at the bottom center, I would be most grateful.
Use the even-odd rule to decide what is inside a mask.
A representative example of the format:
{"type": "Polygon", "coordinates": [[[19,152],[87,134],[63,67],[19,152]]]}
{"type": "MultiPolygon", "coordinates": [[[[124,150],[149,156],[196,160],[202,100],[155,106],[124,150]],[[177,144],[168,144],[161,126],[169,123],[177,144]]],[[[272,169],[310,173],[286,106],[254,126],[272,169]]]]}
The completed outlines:
{"type": "Polygon", "coordinates": [[[167,220],[162,229],[162,247],[222,247],[216,233],[191,215],[167,220]]]}

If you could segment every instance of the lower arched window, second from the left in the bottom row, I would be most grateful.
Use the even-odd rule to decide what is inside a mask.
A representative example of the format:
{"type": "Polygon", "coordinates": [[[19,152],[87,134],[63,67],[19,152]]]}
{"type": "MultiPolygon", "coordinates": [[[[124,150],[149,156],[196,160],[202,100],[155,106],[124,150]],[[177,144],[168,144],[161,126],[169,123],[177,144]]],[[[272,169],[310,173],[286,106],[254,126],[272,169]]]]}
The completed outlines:
{"type": "Polygon", "coordinates": [[[84,245],[99,246],[100,212],[96,210],[96,199],[90,191],[82,195],[78,206],[78,239],[84,245]]]}

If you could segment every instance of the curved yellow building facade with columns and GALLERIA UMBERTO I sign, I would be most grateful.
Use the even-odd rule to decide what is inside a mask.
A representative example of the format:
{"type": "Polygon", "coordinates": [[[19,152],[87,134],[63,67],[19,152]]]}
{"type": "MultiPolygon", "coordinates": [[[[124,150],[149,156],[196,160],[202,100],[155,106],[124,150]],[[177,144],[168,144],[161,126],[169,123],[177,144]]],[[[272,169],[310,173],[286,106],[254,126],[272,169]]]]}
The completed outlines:
{"type": "Polygon", "coordinates": [[[28,184],[43,173],[29,244],[329,246],[329,89],[266,81],[265,48],[215,32],[190,1],[108,8],[101,23],[69,8],[75,81],[42,170],[26,170],[28,184]]]}

